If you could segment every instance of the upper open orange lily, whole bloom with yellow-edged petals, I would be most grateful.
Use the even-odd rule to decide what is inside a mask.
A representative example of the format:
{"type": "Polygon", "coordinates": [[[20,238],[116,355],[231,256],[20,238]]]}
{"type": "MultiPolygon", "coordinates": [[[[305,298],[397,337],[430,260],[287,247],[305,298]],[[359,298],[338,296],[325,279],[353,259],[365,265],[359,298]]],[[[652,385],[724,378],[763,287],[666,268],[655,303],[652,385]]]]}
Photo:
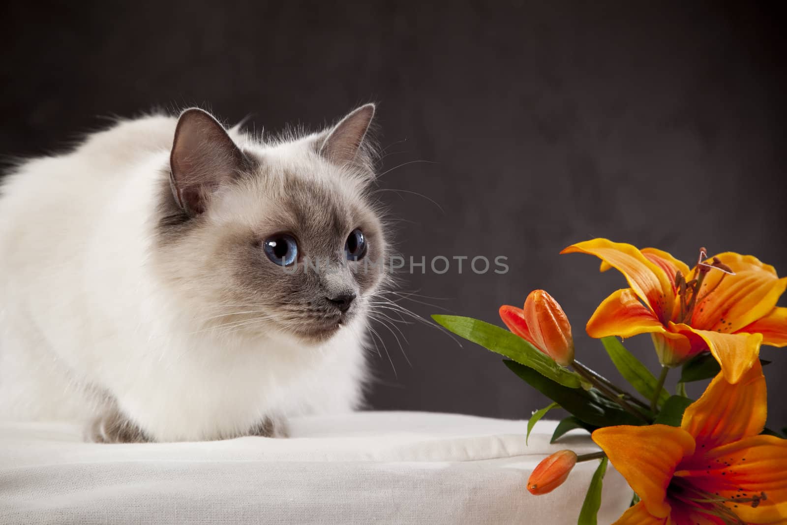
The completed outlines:
{"type": "Polygon", "coordinates": [[[561,253],[595,255],[602,272],[616,268],[629,283],[593,313],[591,337],[649,333],[661,363],[670,367],[710,350],[730,383],[752,367],[761,344],[787,346],[787,308],[776,306],[787,278],[756,257],[720,253],[689,270],[667,252],[605,238],[561,253]]]}

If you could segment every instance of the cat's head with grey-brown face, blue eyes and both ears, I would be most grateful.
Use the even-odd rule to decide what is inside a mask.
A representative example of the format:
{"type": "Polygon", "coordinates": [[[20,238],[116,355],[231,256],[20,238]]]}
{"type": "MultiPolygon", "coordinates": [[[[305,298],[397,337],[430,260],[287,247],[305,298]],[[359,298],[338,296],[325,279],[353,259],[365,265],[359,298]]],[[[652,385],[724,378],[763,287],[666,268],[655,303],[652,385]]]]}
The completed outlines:
{"type": "Polygon", "coordinates": [[[369,194],[374,113],[269,143],[201,109],[180,115],[155,260],[187,315],[313,343],[365,316],[387,252],[369,194]]]}

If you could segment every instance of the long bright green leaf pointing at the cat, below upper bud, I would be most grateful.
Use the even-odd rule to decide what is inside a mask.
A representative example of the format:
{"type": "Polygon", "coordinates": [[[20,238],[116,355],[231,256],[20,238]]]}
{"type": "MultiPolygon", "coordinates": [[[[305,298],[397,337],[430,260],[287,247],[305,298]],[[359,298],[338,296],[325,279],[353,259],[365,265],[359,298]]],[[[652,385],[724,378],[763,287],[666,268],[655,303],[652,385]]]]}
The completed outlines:
{"type": "Polygon", "coordinates": [[[434,315],[432,319],[454,334],[533,368],[563,386],[578,388],[582,384],[578,374],[561,367],[552,357],[508,330],[471,317],[434,315]]]}

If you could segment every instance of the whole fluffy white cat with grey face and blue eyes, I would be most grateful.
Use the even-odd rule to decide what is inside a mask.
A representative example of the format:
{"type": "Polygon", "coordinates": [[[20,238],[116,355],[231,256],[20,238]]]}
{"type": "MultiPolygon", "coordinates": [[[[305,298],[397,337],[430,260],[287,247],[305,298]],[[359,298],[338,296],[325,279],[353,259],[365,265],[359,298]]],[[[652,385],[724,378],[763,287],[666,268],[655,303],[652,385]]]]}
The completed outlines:
{"type": "Polygon", "coordinates": [[[0,417],[167,442],[357,407],[387,250],[374,111],[268,143],[146,116],[6,176],[0,417]]]}

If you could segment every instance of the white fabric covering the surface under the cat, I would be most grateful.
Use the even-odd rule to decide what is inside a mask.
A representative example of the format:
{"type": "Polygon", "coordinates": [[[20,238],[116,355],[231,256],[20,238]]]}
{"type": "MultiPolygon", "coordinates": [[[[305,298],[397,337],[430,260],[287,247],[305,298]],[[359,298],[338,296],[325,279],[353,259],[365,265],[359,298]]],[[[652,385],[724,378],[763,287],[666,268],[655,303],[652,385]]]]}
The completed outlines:
{"type": "MultiPolygon", "coordinates": [[[[98,445],[62,423],[0,423],[0,523],[576,523],[598,461],[535,497],[538,462],[597,450],[541,421],[357,412],[290,422],[288,439],[98,445]]],[[[609,468],[598,523],[631,490],[609,468]]]]}

